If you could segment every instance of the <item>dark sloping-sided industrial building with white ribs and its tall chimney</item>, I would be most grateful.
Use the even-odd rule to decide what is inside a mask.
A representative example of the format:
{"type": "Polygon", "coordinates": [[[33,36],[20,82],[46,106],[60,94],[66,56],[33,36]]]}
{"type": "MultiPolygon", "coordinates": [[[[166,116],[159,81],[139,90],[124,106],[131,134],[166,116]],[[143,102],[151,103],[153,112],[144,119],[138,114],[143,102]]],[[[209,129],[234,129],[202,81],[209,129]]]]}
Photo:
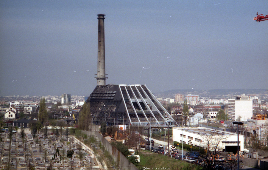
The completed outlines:
{"type": "Polygon", "coordinates": [[[86,100],[94,124],[169,126],[175,120],[146,85],[106,85],[104,19],[98,16],[97,86],[86,100]]]}

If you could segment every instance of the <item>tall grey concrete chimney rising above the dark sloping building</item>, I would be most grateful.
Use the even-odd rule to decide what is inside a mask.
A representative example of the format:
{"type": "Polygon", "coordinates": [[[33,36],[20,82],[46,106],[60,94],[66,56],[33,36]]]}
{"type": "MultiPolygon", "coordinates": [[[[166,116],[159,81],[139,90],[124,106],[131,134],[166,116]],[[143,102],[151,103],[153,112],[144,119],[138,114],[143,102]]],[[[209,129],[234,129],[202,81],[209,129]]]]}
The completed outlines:
{"type": "Polygon", "coordinates": [[[105,46],[104,46],[104,16],[99,16],[99,27],[98,27],[98,72],[97,72],[97,85],[106,85],[105,80],[108,78],[105,76],[105,46]]]}

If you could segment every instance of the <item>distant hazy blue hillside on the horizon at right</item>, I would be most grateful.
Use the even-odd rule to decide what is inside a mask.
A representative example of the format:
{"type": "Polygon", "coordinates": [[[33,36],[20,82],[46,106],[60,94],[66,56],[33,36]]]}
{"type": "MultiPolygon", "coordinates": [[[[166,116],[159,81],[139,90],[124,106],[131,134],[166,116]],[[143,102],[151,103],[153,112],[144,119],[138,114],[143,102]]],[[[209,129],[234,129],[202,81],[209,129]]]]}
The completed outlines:
{"type": "Polygon", "coordinates": [[[224,95],[267,95],[267,89],[212,89],[212,90],[196,90],[196,89],[176,89],[167,90],[161,93],[156,93],[156,95],[172,95],[172,94],[194,94],[200,95],[202,97],[208,96],[224,96],[224,95]]]}

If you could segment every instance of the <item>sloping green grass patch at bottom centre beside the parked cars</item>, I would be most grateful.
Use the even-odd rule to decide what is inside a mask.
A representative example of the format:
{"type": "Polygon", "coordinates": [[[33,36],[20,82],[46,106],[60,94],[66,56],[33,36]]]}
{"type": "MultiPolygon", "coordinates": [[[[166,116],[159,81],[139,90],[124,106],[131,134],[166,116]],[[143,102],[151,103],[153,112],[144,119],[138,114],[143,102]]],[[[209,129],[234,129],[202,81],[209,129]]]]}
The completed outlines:
{"type": "Polygon", "coordinates": [[[138,169],[147,168],[170,168],[170,170],[201,170],[202,167],[187,163],[182,160],[177,160],[164,156],[162,154],[157,154],[145,150],[139,152],[140,163],[138,164],[138,169]]]}

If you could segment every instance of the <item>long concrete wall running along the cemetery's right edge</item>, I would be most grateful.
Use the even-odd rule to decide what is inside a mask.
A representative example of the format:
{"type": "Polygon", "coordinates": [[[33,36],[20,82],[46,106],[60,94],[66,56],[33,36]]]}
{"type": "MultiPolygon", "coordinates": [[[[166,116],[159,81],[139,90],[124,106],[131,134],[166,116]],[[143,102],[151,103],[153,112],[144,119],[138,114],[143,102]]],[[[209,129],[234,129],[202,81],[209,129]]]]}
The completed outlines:
{"type": "Polygon", "coordinates": [[[96,131],[82,131],[83,133],[87,135],[93,135],[96,136],[101,143],[105,146],[106,150],[113,155],[113,158],[115,162],[117,163],[117,166],[119,169],[122,170],[138,170],[136,166],[133,165],[133,163],[130,163],[128,159],[121,154],[114,146],[112,146],[99,132],[96,131]]]}

